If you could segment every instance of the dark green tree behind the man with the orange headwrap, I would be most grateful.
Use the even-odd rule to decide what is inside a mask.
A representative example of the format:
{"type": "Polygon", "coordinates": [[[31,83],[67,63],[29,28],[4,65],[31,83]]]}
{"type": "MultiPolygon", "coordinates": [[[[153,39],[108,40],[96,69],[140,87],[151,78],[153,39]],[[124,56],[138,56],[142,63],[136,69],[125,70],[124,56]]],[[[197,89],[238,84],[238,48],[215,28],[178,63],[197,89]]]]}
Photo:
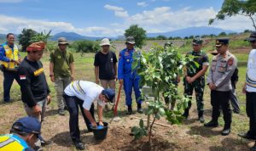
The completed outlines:
{"type": "Polygon", "coordinates": [[[26,51],[26,48],[32,43],[32,37],[37,35],[37,31],[32,29],[23,29],[21,34],[18,36],[19,43],[22,46],[22,51],[26,51]]]}

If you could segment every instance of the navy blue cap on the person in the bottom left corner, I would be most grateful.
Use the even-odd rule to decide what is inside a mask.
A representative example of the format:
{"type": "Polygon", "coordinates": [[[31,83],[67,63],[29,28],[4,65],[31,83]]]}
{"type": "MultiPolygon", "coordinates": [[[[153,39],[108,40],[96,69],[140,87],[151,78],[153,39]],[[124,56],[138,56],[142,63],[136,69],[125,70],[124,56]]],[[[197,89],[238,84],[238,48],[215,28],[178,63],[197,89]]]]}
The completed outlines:
{"type": "Polygon", "coordinates": [[[33,117],[23,117],[16,120],[12,126],[11,132],[26,132],[33,134],[41,133],[41,123],[33,117]]]}

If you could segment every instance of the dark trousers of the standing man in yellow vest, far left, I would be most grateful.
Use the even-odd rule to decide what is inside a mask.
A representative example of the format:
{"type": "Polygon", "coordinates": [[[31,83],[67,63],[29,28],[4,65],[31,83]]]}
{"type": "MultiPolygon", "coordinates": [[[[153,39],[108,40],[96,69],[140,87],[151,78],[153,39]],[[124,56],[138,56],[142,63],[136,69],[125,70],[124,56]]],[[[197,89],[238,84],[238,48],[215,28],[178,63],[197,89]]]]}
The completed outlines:
{"type": "Polygon", "coordinates": [[[19,77],[18,73],[15,71],[9,71],[9,70],[4,70],[3,71],[3,101],[4,102],[9,102],[10,96],[10,88],[13,85],[13,82],[17,81],[19,83],[19,77]]]}

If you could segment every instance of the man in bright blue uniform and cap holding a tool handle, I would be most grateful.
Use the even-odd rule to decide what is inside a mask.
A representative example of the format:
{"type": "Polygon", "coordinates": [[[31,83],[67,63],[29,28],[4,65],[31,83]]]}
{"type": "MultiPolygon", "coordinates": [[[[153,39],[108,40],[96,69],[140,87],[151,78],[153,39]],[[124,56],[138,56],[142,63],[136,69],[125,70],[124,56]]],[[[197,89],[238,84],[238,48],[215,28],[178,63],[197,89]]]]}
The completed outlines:
{"type": "Polygon", "coordinates": [[[132,87],[135,92],[135,97],[137,101],[137,112],[143,113],[142,109],[142,98],[141,92],[139,88],[139,81],[140,76],[137,75],[136,70],[131,69],[131,64],[133,61],[133,53],[136,52],[134,49],[135,41],[133,36],[128,36],[126,39],[126,48],[119,53],[119,83],[124,83],[124,90],[125,90],[125,104],[128,106],[127,115],[132,114],[131,108],[131,92],[132,87]]]}

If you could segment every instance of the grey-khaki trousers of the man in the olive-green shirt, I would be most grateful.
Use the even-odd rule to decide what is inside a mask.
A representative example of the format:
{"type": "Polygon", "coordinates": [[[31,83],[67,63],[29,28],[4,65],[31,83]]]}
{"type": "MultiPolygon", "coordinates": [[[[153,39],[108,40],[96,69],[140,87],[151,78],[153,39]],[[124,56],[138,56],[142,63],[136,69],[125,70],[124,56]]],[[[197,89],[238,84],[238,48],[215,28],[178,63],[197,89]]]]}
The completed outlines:
{"type": "Polygon", "coordinates": [[[55,92],[58,109],[64,109],[65,102],[63,99],[63,92],[65,88],[71,83],[70,77],[57,77],[55,78],[55,92]]]}

